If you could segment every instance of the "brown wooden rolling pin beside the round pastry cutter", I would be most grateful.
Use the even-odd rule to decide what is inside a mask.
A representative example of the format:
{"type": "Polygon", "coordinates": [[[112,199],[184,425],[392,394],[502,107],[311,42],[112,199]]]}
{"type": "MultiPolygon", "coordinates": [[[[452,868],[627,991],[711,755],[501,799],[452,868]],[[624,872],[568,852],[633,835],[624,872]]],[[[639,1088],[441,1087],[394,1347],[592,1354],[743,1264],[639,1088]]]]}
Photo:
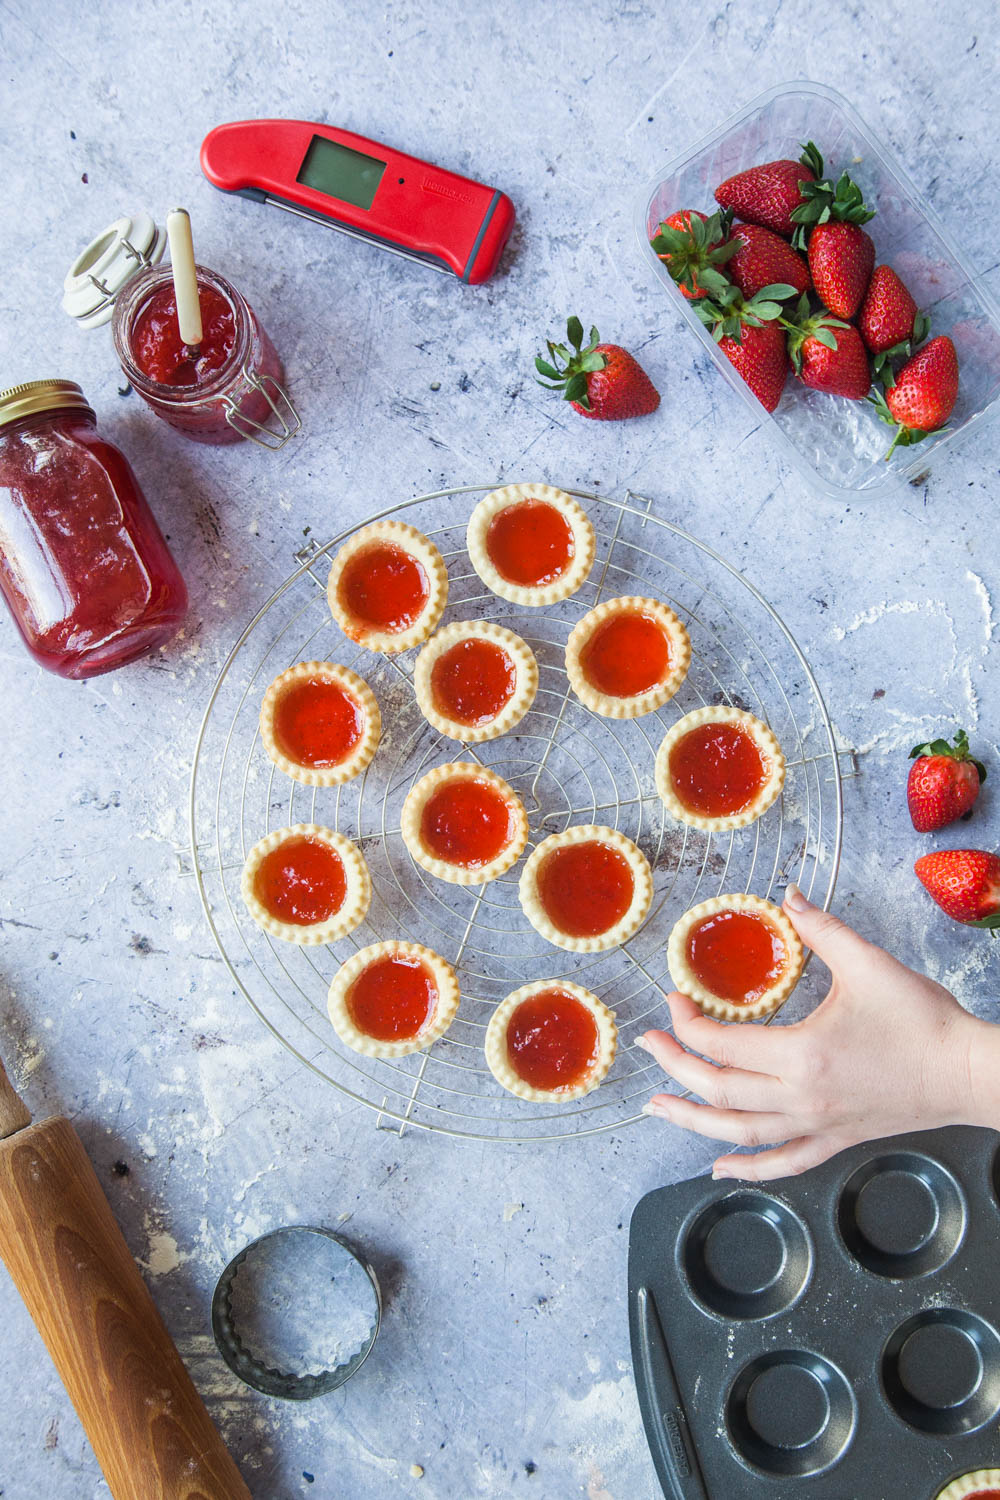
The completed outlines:
{"type": "Polygon", "coordinates": [[[31,1125],[0,1064],[0,1257],[114,1500],[250,1500],[67,1119],[31,1125]]]}

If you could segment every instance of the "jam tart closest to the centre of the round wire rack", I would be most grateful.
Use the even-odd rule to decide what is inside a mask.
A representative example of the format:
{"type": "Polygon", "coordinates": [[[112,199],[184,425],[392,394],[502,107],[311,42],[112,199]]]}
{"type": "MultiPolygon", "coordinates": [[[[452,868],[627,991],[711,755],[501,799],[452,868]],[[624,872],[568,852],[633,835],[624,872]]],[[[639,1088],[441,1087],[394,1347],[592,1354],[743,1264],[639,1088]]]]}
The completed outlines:
{"type": "Polygon", "coordinates": [[[528,814],[495,771],[454,760],[429,771],[409,789],[402,834],[429,874],[453,885],[481,885],[520,860],[528,814]]]}

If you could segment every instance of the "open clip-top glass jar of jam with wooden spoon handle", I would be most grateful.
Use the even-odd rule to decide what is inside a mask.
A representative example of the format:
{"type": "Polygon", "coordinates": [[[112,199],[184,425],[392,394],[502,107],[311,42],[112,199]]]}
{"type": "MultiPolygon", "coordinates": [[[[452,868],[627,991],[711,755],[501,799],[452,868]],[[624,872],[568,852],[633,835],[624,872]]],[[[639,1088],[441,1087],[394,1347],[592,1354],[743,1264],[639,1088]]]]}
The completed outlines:
{"type": "Polygon", "coordinates": [[[202,340],[181,342],[169,267],[150,266],[118,291],[111,334],[142,400],[195,442],[282,447],[300,422],[274,345],[235,286],[196,267],[202,340]]]}

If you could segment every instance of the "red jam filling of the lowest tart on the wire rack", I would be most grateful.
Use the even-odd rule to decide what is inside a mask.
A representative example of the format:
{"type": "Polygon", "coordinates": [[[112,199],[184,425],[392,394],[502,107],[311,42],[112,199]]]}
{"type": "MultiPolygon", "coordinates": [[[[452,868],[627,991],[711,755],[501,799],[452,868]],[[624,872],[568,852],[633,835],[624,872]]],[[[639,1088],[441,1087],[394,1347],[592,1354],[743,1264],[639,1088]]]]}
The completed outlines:
{"type": "Polygon", "coordinates": [[[532,1089],[577,1088],[594,1071],[598,1053],[594,1016],[558,987],[522,1000],[507,1023],[510,1065],[532,1089]]]}

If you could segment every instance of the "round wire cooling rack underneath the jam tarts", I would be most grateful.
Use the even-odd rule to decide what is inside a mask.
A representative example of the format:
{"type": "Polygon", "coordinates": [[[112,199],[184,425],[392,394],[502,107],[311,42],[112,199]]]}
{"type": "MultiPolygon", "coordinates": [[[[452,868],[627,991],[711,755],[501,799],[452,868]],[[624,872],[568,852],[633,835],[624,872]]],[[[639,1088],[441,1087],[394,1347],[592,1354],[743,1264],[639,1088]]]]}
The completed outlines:
{"type": "Polygon", "coordinates": [[[559,604],[523,609],[489,592],[472,570],[465,528],[492,486],[439,490],[394,506],[424,531],[448,566],[445,622],[487,618],[523,636],[538,658],[538,694],[513,734],[462,747],[426,723],[412,690],[417,651],[375,656],[348,640],[330,616],[328,564],[352,530],[300,554],[303,566],[246,627],[208,699],[190,784],[193,870],[222,958],[264,1024],[306,1066],[378,1110],[378,1124],[406,1124],[475,1140],[525,1142],[618,1130],[640,1119],[661,1071],[631,1042],[669,1028],[667,936],[696,902],[735,891],[781,900],[789,880],[829,906],[841,850],[838,752],[813,674],[789,630],[757,590],[717,552],[654,514],[649,501],[571,490],[597,532],[586,584],[559,604]],[[691,634],[691,669],[664,708],[634,720],[601,718],[570,692],[564,651],[576,621],[621,594],[669,603],[691,634]],[[268,682],[303,660],[354,668],[382,711],[382,741],[367,771],[339,788],[306,788],[277,771],[258,735],[268,682]],[[780,801],[750,828],[706,834],[675,824],[654,784],[667,728],[705,704],[735,704],[766,720],[787,774],[780,801]],[[522,862],[489,885],[435,880],[409,856],[399,824],[406,792],[435,765],[477,760],[520,794],[529,846],[571,824],[603,824],[633,838],[654,868],[655,897],[622,948],[571,954],[547,944],[517,902],[522,862]],[[373,882],[366,922],[331,946],[298,948],[259,932],[243,908],[240,873],[249,849],[274,828],[316,822],[354,838],[373,882]],[[427,1052],[372,1059],[351,1052],[327,1017],[327,988],[358,948],[390,938],[426,944],[457,969],[459,1014],[427,1052]],[[618,1016],[619,1050],[601,1084],[582,1100],[541,1106],[493,1080],[483,1041],[493,1008],[528,980],[574,980],[618,1016]]]}

